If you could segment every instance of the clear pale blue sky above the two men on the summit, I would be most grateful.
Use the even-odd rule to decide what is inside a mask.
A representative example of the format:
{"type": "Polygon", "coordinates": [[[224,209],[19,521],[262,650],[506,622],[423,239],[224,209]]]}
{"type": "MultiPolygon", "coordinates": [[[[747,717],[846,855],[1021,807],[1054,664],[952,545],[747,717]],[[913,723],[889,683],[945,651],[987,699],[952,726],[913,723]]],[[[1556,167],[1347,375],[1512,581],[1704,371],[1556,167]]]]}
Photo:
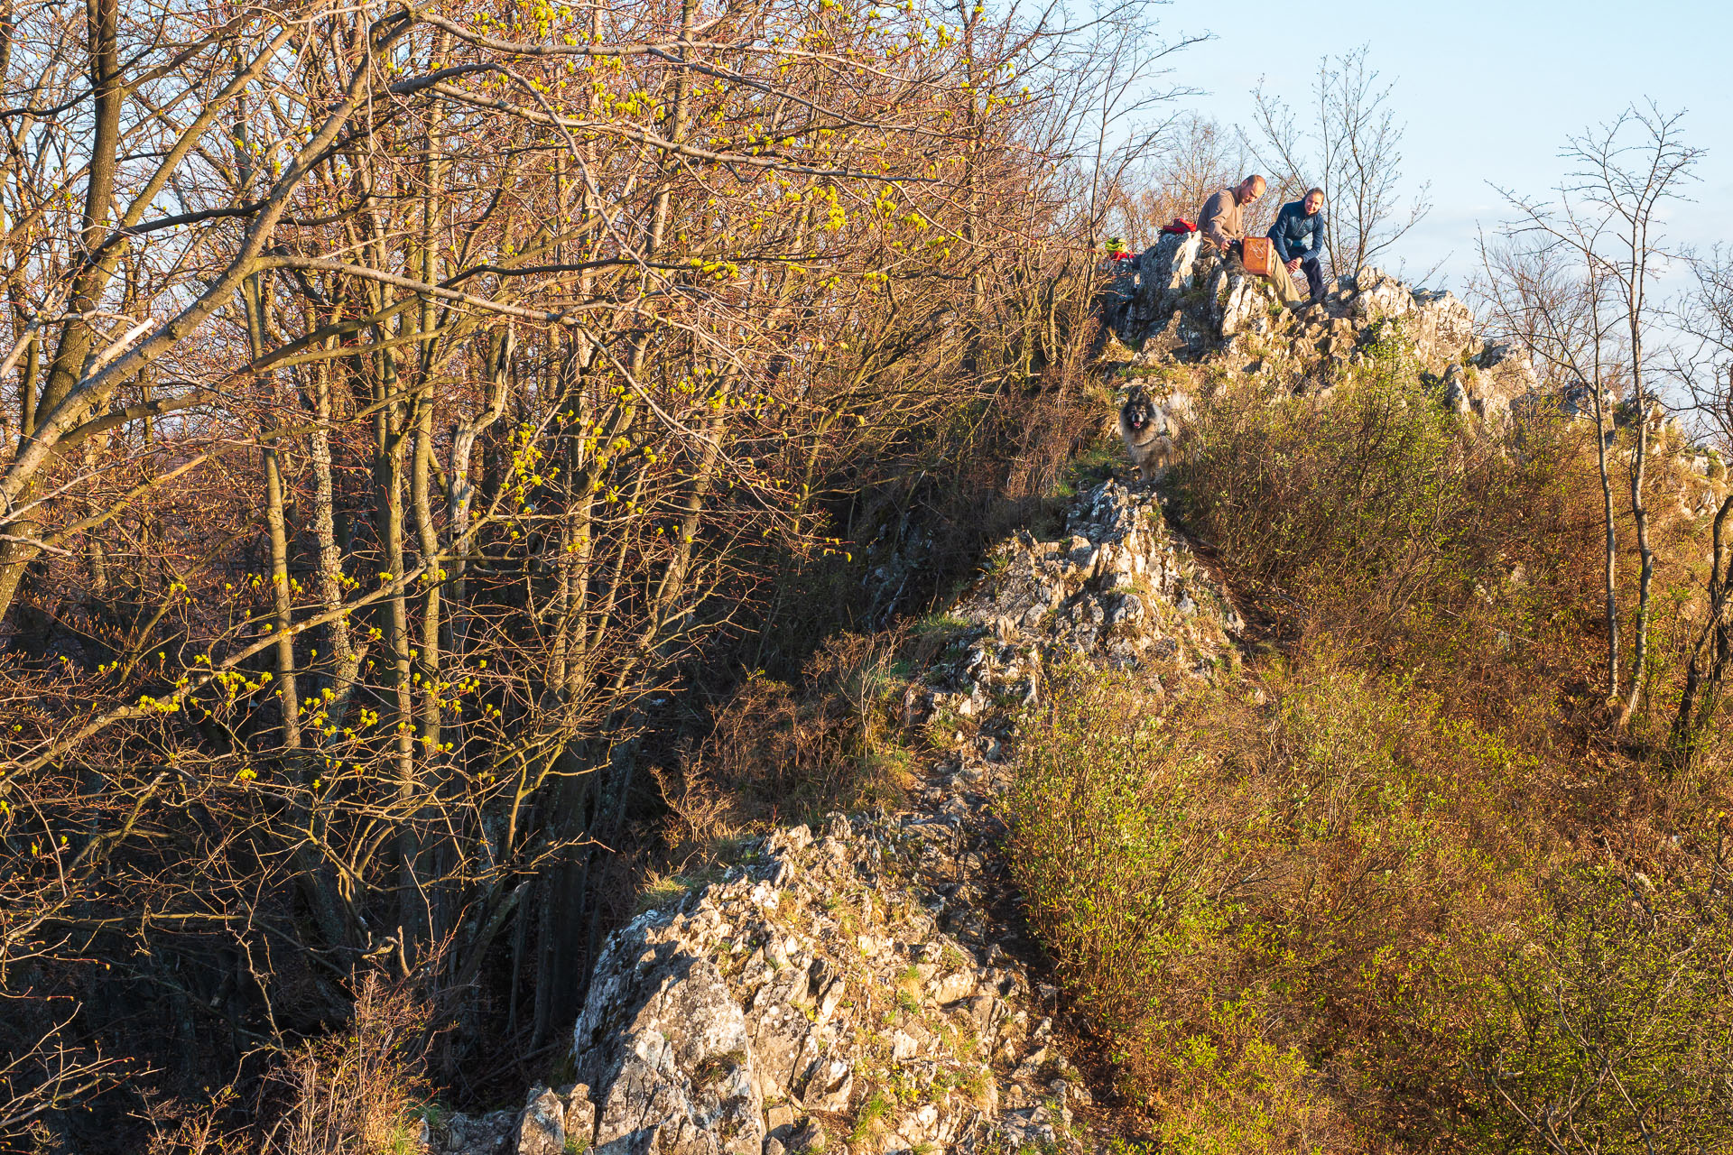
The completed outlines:
{"type": "Polygon", "coordinates": [[[1168,81],[1204,90],[1180,107],[1248,130],[1260,76],[1300,106],[1322,55],[1369,45],[1407,125],[1405,185],[1431,182],[1431,215],[1402,241],[1402,265],[1444,261],[1438,287],[1463,289],[1477,225],[1508,216],[1489,182],[1544,194],[1568,171],[1567,137],[1650,97],[1684,109],[1686,142],[1709,151],[1691,203],[1667,210],[1669,242],[1733,241],[1733,0],[1173,0],[1158,12],[1163,38],[1215,36],[1168,57],[1168,81]]]}

